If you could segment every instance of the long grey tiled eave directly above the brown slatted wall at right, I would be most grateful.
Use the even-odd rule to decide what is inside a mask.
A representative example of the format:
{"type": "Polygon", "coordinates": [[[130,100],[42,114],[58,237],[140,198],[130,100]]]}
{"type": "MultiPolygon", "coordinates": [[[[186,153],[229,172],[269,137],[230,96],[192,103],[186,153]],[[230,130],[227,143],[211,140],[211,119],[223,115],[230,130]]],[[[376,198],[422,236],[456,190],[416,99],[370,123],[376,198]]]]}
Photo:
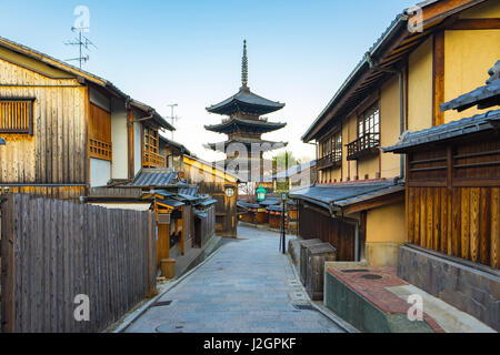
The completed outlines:
{"type": "Polygon", "coordinates": [[[489,111],[483,114],[477,114],[469,119],[452,121],[450,123],[433,126],[428,130],[404,133],[396,145],[384,148],[383,151],[386,153],[400,153],[409,148],[413,148],[417,145],[492,130],[498,126],[499,122],[500,110],[489,111]]]}

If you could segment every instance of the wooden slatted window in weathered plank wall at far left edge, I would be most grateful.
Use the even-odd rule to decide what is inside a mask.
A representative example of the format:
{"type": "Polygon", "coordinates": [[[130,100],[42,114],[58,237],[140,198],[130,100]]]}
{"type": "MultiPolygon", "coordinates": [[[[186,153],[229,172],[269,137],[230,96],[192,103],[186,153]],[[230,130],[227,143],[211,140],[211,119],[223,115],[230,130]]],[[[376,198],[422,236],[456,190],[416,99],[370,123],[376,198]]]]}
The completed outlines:
{"type": "Polygon", "coordinates": [[[0,133],[33,135],[33,99],[0,99],[0,133]]]}

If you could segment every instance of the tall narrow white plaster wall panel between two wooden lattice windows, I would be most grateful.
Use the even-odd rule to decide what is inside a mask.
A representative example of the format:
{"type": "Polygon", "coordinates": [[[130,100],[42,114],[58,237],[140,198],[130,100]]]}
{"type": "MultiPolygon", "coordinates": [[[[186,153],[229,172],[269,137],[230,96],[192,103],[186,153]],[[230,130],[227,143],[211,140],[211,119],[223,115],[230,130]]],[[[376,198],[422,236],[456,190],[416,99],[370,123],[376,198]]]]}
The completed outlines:
{"type": "Polygon", "coordinates": [[[112,179],[128,179],[127,111],[122,100],[111,102],[112,179]]]}

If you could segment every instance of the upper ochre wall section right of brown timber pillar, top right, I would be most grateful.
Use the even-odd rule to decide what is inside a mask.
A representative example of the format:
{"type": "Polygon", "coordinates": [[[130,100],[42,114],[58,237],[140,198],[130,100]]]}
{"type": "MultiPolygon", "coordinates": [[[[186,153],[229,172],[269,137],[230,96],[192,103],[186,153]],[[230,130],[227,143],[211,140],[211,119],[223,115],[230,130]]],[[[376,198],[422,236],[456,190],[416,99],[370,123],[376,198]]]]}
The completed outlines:
{"type": "MultiPolygon", "coordinates": [[[[488,70],[498,60],[500,60],[500,30],[446,31],[444,102],[484,85],[489,77],[488,70]]],[[[477,108],[462,112],[447,111],[444,123],[486,111],[488,110],[477,108]]]]}

